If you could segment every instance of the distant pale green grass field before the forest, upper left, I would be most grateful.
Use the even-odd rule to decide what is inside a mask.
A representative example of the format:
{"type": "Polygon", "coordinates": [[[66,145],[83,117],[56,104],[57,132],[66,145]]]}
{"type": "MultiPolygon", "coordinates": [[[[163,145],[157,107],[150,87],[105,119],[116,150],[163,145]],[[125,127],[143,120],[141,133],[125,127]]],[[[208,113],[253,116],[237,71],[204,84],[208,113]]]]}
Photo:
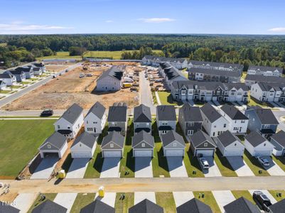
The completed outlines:
{"type": "MultiPolygon", "coordinates": [[[[120,59],[123,51],[90,51],[84,55],[84,57],[92,57],[92,58],[113,58],[120,59]]],[[[127,52],[133,52],[133,50],[127,50],[127,52]]],[[[154,50],[155,53],[160,53],[161,50],[154,50]]],[[[54,58],[75,58],[81,59],[80,55],[70,56],[69,52],[57,52],[56,55],[45,56],[41,58],[37,58],[37,60],[43,59],[54,59],[54,58]]]]}

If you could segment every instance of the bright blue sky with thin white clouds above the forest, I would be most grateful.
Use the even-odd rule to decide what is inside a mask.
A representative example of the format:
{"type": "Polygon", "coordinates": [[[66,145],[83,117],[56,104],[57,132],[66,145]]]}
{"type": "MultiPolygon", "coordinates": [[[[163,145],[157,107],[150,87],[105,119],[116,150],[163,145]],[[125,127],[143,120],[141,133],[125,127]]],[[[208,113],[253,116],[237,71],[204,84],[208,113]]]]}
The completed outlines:
{"type": "Polygon", "coordinates": [[[0,0],[0,34],[285,34],[284,0],[0,0]]]}

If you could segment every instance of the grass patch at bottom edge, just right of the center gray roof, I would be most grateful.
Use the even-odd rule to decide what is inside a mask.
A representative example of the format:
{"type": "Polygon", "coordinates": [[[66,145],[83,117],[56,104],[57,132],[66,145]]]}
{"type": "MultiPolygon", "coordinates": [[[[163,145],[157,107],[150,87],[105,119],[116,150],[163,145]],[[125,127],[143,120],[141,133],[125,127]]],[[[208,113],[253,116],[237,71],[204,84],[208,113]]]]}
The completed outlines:
{"type": "Polygon", "coordinates": [[[176,212],[176,204],[172,192],[156,192],[156,204],[163,207],[164,213],[176,212]]]}

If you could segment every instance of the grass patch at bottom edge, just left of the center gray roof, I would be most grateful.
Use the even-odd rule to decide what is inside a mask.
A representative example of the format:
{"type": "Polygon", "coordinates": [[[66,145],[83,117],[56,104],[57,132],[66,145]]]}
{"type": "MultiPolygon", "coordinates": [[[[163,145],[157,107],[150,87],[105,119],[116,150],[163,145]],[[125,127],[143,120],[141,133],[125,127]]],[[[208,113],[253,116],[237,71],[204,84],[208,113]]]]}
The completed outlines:
{"type": "Polygon", "coordinates": [[[134,206],[134,193],[117,192],[115,206],[116,213],[127,213],[129,208],[134,206]],[[120,200],[120,196],[124,194],[124,200],[120,200]]]}

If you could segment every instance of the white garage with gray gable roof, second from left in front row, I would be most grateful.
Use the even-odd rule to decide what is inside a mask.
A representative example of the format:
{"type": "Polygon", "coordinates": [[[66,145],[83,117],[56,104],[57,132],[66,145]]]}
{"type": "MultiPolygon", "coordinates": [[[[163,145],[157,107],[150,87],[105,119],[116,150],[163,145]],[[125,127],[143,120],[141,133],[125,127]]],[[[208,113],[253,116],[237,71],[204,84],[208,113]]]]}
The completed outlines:
{"type": "Polygon", "coordinates": [[[96,148],[97,137],[86,131],[75,138],[70,147],[71,158],[92,158],[96,148]]]}

